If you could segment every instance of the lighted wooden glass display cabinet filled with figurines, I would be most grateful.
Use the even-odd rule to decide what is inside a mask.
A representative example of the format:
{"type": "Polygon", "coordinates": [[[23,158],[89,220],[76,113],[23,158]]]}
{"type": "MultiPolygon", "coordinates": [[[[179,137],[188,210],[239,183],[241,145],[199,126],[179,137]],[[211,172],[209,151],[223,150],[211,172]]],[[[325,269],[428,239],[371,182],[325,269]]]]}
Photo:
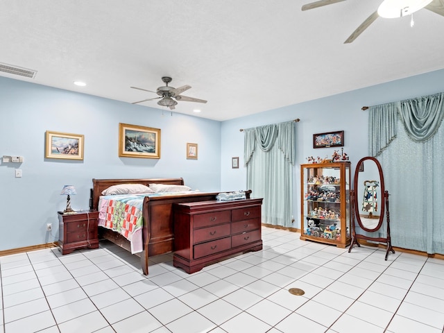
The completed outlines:
{"type": "Polygon", "coordinates": [[[350,245],[350,162],[301,164],[300,239],[350,245]]]}

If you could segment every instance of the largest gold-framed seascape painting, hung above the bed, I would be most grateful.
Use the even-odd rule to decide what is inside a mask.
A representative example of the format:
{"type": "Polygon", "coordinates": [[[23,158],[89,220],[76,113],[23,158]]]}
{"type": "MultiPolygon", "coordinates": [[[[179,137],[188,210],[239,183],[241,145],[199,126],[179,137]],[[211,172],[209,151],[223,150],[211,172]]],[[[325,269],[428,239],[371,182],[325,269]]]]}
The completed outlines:
{"type": "Polygon", "coordinates": [[[160,158],[160,129],[119,123],[119,157],[160,158]]]}

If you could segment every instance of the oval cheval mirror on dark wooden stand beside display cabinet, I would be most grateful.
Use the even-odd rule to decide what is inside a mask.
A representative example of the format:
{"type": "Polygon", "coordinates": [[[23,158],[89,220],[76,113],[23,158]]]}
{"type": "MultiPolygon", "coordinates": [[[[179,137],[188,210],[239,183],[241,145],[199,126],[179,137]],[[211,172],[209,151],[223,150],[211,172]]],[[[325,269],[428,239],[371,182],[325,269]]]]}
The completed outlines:
{"type": "MultiPolygon", "coordinates": [[[[353,181],[353,189],[350,191],[351,209],[352,209],[352,243],[348,252],[356,244],[358,247],[359,239],[385,243],[387,246],[386,260],[388,251],[395,253],[391,246],[390,238],[390,214],[388,213],[388,191],[384,187],[384,175],[381,164],[375,157],[363,157],[359,160],[353,181]],[[386,213],[386,236],[384,232],[379,232],[384,222],[384,212],[386,213]],[[368,234],[359,234],[359,230],[364,232],[377,232],[377,237],[368,236],[368,234]]],[[[382,231],[382,230],[381,230],[382,231]]]]}

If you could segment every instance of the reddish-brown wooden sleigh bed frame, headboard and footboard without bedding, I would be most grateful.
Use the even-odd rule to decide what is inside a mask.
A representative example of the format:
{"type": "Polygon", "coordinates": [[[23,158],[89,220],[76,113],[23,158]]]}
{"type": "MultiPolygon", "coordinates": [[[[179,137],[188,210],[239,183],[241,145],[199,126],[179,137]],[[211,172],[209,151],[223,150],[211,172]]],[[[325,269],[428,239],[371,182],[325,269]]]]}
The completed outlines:
{"type": "MultiPolygon", "coordinates": [[[[153,178],[153,179],[93,179],[91,197],[89,198],[89,206],[91,210],[99,209],[99,198],[102,191],[108,189],[112,185],[123,184],[142,184],[149,186],[150,184],[166,184],[166,185],[184,185],[183,178],[153,178]]],[[[251,191],[246,191],[247,198],[250,198],[251,191]]],[[[142,216],[142,253],[140,256],[142,271],[148,275],[148,255],[161,255],[171,253],[174,250],[174,230],[173,230],[173,204],[174,203],[190,203],[198,201],[216,200],[219,192],[195,192],[190,194],[178,194],[168,196],[157,196],[144,198],[142,216]]],[[[113,230],[99,227],[101,239],[108,239],[114,244],[130,251],[130,241],[123,235],[113,230]]]]}

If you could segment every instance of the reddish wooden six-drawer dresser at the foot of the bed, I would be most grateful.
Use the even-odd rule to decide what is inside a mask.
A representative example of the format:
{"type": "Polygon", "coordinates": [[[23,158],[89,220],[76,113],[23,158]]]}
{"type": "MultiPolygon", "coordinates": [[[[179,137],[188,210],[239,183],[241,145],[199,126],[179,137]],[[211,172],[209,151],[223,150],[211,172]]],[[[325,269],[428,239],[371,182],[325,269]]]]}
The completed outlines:
{"type": "Polygon", "coordinates": [[[236,253],[262,250],[262,198],[176,203],[173,264],[200,271],[236,253]]]}

